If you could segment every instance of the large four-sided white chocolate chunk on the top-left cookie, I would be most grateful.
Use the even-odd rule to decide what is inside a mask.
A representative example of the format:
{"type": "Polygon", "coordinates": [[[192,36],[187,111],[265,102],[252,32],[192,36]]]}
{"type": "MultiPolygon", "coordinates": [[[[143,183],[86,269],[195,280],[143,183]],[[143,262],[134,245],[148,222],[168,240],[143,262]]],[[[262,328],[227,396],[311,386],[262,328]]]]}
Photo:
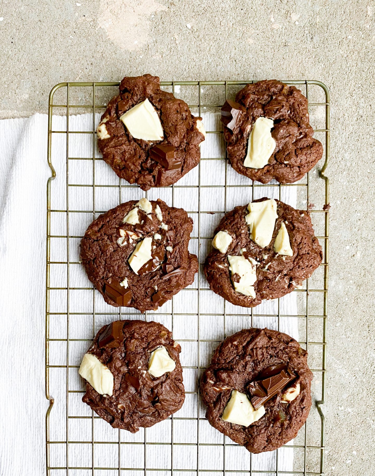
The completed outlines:
{"type": "Polygon", "coordinates": [[[120,120],[135,139],[162,140],[164,137],[159,116],[148,99],[126,111],[120,120]]]}

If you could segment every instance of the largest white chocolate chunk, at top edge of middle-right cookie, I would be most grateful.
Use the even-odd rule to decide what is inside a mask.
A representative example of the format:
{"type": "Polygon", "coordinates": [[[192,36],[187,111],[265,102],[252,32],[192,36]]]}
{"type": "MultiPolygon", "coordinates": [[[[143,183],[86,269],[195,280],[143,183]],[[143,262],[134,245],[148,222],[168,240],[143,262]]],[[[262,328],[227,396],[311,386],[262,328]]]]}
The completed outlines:
{"type": "Polygon", "coordinates": [[[249,225],[250,238],[262,248],[268,246],[272,239],[273,228],[277,218],[277,203],[271,198],[262,202],[252,202],[248,205],[245,217],[249,225]]]}

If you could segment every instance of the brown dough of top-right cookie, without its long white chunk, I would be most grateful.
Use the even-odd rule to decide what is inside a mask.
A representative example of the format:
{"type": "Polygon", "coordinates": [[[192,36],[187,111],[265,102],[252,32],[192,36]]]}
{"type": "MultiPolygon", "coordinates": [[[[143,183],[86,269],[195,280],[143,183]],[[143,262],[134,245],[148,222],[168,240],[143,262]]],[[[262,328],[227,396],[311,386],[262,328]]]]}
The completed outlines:
{"type": "Polygon", "coordinates": [[[293,183],[322,158],[323,146],[312,137],[307,99],[299,89],[281,81],[264,80],[246,85],[237,93],[236,101],[243,112],[233,130],[224,127],[224,137],[231,166],[240,174],[261,183],[273,178],[293,183]],[[243,162],[251,128],[260,117],[273,120],[271,136],[276,147],[266,166],[252,169],[243,162]]]}

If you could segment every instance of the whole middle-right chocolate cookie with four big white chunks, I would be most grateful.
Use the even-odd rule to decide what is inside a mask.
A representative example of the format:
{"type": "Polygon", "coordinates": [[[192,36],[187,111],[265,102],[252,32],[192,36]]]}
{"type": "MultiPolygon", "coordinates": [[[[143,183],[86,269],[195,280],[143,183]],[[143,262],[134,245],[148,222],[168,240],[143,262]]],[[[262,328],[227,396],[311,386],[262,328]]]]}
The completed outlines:
{"type": "Polygon", "coordinates": [[[227,213],[212,245],[204,265],[209,287],[243,307],[301,286],[323,256],[308,212],[267,198],[227,213]]]}

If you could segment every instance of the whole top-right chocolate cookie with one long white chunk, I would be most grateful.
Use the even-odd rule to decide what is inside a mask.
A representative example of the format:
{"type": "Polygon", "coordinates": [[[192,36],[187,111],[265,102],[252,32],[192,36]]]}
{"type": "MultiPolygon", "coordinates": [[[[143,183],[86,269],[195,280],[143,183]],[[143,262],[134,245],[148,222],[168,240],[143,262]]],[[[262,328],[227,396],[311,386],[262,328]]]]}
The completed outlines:
{"type": "Polygon", "coordinates": [[[276,80],[248,84],[221,109],[230,163],[251,180],[293,183],[322,158],[307,99],[276,80]]]}

